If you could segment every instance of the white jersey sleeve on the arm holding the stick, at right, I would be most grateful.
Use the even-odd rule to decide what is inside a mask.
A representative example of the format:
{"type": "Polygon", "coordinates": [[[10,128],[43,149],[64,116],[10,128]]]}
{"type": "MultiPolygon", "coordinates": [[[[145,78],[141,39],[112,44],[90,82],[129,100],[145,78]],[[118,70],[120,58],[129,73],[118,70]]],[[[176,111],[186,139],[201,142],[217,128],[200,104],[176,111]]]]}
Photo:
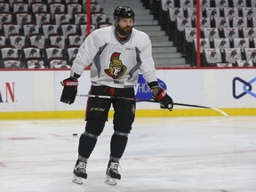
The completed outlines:
{"type": "Polygon", "coordinates": [[[141,42],[144,42],[144,44],[140,50],[140,59],[142,61],[140,72],[147,83],[157,82],[155,62],[152,58],[152,44],[148,35],[145,34],[143,37],[141,42]]]}

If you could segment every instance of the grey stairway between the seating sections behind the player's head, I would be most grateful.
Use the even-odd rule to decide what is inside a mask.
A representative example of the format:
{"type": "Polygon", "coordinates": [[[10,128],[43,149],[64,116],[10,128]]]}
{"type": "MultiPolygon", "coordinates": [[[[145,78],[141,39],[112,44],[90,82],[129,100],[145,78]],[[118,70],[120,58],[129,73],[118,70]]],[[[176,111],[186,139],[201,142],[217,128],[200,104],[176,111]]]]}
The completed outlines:
{"type": "Polygon", "coordinates": [[[113,12],[119,5],[128,5],[135,12],[135,27],[148,34],[152,42],[152,55],[156,68],[184,68],[189,67],[186,59],[177,52],[177,47],[169,41],[169,36],[161,29],[158,20],[146,9],[140,0],[98,0],[103,12],[114,23],[113,12]]]}

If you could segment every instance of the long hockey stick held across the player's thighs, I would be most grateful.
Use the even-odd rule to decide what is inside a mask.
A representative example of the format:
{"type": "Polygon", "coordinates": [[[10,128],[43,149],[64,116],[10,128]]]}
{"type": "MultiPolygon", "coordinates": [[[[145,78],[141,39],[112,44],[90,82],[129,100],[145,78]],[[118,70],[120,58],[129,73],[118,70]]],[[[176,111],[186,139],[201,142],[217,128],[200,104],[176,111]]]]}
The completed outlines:
{"type": "MultiPolygon", "coordinates": [[[[145,99],[139,99],[139,98],[126,98],[126,97],[114,97],[114,96],[108,96],[108,95],[93,95],[93,94],[77,94],[76,96],[78,97],[89,97],[89,98],[100,98],[100,99],[107,99],[107,100],[134,100],[134,101],[146,101],[146,102],[154,102],[154,103],[159,103],[156,100],[145,100],[145,99]]],[[[216,110],[220,112],[223,116],[228,117],[228,114],[225,113],[224,111],[220,110],[219,108],[211,108],[211,107],[205,107],[205,106],[199,106],[199,105],[191,105],[191,104],[185,104],[185,103],[176,103],[174,102],[173,105],[177,106],[185,106],[185,107],[190,107],[190,108],[209,108],[216,110]]]]}

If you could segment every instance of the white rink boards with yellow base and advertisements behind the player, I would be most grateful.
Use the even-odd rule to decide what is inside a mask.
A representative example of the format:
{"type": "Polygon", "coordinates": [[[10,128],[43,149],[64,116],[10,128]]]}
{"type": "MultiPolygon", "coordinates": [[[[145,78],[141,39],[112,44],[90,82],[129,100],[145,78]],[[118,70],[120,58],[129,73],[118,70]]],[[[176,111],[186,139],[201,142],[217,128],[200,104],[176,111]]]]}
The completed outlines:
{"type": "MultiPolygon", "coordinates": [[[[158,82],[174,102],[221,108],[229,116],[256,115],[256,73],[253,68],[157,69],[158,82]]],[[[60,81],[68,70],[0,71],[0,119],[80,118],[87,98],[77,97],[72,105],[60,102],[60,81]]],[[[79,78],[78,94],[89,92],[90,71],[79,78]]],[[[136,97],[151,99],[140,75],[136,97]]],[[[158,104],[137,103],[136,116],[221,116],[212,109],[175,106],[172,112],[158,104]]],[[[113,116],[111,109],[109,116],[113,116]]]]}

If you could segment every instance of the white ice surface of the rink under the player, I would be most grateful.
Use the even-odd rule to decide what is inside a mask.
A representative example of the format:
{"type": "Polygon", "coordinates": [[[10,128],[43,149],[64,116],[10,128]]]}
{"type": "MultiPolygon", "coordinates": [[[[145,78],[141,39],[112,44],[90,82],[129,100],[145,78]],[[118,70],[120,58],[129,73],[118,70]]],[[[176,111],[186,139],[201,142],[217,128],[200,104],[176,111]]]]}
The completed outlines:
{"type": "Polygon", "coordinates": [[[88,179],[71,181],[82,132],[83,119],[0,121],[0,192],[256,191],[255,116],[137,118],[116,186],[104,183],[112,119],[88,179]]]}

